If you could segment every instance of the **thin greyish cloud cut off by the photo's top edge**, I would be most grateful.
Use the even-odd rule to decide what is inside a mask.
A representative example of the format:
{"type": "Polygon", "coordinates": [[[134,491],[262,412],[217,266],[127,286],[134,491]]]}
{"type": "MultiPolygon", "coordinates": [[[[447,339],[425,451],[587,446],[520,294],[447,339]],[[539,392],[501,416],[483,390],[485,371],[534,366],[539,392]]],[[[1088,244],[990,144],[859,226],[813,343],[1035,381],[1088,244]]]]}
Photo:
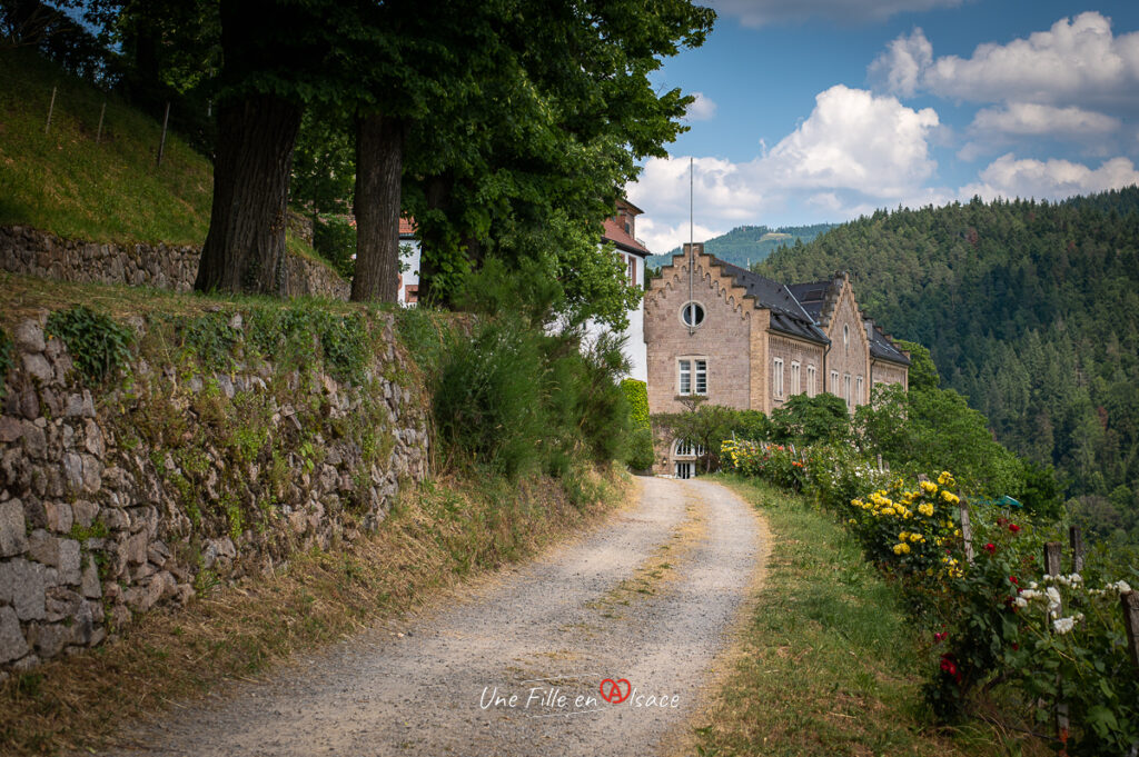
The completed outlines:
{"type": "Polygon", "coordinates": [[[826,18],[837,23],[868,23],[890,18],[904,11],[956,8],[962,0],[710,0],[721,16],[739,20],[744,26],[800,23],[808,18],[826,18]]]}

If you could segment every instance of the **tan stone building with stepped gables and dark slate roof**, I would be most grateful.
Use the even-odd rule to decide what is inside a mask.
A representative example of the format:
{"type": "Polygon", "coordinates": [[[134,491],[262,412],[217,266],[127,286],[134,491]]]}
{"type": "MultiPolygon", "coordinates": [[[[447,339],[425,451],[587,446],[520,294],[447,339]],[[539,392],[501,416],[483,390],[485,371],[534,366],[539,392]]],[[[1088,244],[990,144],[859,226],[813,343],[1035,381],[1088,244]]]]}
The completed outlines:
{"type": "MultiPolygon", "coordinates": [[[[910,362],[862,313],[847,274],[785,286],[703,245],[685,245],[649,282],[645,342],[652,413],[681,412],[691,395],[770,413],[796,394],[822,392],[853,411],[875,384],[907,386],[910,362]]],[[[690,475],[702,451],[664,446],[657,472],[690,475]]]]}

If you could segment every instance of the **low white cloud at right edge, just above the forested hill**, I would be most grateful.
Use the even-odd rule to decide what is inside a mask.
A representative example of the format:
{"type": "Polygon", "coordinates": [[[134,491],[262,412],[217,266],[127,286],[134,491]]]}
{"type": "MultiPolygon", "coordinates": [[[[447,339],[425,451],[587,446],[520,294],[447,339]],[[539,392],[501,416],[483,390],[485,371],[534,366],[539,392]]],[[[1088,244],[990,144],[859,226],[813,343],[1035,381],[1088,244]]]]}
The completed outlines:
{"type": "Polygon", "coordinates": [[[1055,158],[1018,161],[1009,153],[990,163],[980,179],[977,183],[962,187],[960,196],[980,195],[985,200],[995,197],[1063,199],[1139,183],[1139,171],[1125,157],[1112,158],[1098,168],[1089,168],[1080,163],[1055,158]]]}

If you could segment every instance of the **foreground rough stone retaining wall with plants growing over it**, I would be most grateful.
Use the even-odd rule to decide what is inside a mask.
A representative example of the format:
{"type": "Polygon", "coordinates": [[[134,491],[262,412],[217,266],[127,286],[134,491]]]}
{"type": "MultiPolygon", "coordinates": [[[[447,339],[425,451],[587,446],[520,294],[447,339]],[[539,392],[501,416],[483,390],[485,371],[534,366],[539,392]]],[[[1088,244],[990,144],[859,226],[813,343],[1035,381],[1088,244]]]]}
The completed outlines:
{"type": "MultiPolygon", "coordinates": [[[[0,680],[95,647],[157,604],[185,603],[218,581],[280,566],[295,550],[375,528],[400,487],[425,478],[428,450],[425,400],[398,378],[404,356],[392,316],[377,318],[388,319],[372,327],[388,346],[360,386],[323,373],[280,378],[263,363],[206,375],[136,357],[130,380],[88,388],[66,347],[46,337],[46,312],[19,323],[0,401],[0,680]],[[238,402],[257,402],[268,409],[260,428],[269,437],[296,439],[280,447],[278,488],[243,489],[243,507],[251,493],[263,496],[244,525],[226,519],[233,507],[226,503],[237,501],[227,499],[226,482],[263,479],[265,454],[238,463],[223,445],[205,444],[178,458],[173,443],[140,441],[121,422],[147,411],[189,434],[208,421],[206,395],[230,415],[239,415],[238,402]],[[316,410],[298,412],[305,408],[316,410]],[[383,422],[361,431],[362,415],[383,422]],[[369,444],[384,453],[366,458],[369,444]],[[190,478],[181,467],[191,459],[202,484],[188,495],[179,482],[190,478]]],[[[230,324],[243,328],[240,313],[230,324]]],[[[132,326],[141,338],[142,320],[132,326]]],[[[220,418],[208,422],[243,429],[240,418],[220,418]]]]}

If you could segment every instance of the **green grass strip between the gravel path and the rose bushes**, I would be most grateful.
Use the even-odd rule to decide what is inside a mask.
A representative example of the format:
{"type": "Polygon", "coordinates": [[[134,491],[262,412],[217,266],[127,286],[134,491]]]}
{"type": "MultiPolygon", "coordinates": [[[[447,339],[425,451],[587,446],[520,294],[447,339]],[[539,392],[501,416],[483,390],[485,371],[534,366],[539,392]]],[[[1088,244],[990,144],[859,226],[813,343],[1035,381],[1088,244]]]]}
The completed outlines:
{"type": "Polygon", "coordinates": [[[697,754],[1021,754],[984,725],[934,727],[911,630],[842,528],[798,496],[723,482],[760,508],[771,552],[738,660],[697,724],[697,754]]]}

